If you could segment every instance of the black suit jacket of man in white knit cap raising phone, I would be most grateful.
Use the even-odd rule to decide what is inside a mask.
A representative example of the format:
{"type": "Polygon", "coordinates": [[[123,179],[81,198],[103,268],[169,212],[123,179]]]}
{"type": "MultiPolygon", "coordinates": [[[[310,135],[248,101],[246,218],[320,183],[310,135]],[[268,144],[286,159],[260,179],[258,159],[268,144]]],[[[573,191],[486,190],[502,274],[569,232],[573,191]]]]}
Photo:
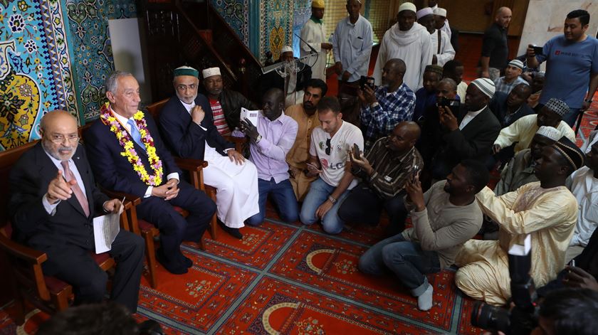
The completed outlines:
{"type": "MultiPolygon", "coordinates": [[[[467,111],[461,108],[457,116],[457,123],[467,111]]],[[[440,159],[446,166],[456,166],[463,159],[476,159],[482,163],[491,154],[492,144],[500,133],[500,122],[486,106],[480,114],[474,117],[462,130],[444,132],[444,145],[439,149],[436,159],[440,159]]]]}

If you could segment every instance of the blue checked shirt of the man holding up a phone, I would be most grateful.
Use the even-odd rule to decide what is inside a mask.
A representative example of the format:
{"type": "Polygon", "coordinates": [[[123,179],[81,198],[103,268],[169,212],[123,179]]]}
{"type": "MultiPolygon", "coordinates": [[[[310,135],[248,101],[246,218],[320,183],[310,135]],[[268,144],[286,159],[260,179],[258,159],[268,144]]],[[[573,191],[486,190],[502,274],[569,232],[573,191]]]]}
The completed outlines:
{"type": "Polygon", "coordinates": [[[415,93],[405,83],[394,92],[380,86],[374,94],[378,105],[362,107],[360,115],[362,129],[367,128],[364,134],[366,152],[377,139],[392,133],[394,126],[411,121],[415,110],[415,93]]]}

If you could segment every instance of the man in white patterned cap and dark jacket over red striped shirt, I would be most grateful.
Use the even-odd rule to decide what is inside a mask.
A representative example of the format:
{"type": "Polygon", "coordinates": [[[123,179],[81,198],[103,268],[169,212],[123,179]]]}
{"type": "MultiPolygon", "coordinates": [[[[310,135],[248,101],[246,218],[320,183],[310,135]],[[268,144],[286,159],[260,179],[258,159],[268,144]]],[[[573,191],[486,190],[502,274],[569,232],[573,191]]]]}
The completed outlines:
{"type": "Polygon", "coordinates": [[[258,107],[241,93],[224,88],[220,68],[206,68],[201,71],[201,75],[204,77],[202,84],[214,115],[214,125],[221,135],[230,135],[239,127],[241,107],[246,110],[257,110],[258,107]]]}

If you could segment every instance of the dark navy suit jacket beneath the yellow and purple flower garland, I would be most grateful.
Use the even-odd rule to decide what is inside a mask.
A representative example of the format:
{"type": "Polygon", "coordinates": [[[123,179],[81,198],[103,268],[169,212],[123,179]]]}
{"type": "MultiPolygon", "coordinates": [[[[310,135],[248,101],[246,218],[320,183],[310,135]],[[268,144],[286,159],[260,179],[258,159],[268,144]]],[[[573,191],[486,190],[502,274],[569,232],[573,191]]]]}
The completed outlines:
{"type": "MultiPolygon", "coordinates": [[[[156,154],[162,161],[162,171],[164,172],[162,184],[167,182],[167,176],[174,172],[177,172],[182,178],[182,171],[177,164],[174,164],[172,155],[164,146],[154,119],[148,113],[144,113],[144,117],[147,122],[147,129],[154,139],[156,154]]],[[[98,183],[104,188],[130,193],[143,198],[145,191],[147,191],[147,185],[141,181],[127,158],[120,155],[124,149],[118,143],[116,135],[110,132],[110,126],[103,124],[102,120],[98,119],[98,121],[93,122],[83,136],[85,137],[85,148],[89,152],[89,161],[98,183]]],[[[133,143],[147,173],[153,174],[154,171],[150,166],[145,149],[142,149],[137,143],[133,143]]]]}

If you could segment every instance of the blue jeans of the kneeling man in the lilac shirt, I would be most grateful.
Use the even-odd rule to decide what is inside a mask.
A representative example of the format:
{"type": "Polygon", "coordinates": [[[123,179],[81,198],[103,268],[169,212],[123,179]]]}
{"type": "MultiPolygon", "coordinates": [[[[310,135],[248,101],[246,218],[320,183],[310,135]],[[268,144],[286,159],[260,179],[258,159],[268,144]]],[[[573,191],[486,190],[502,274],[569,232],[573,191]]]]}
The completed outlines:
{"type": "Polygon", "coordinates": [[[258,191],[260,192],[260,213],[251,216],[245,223],[248,225],[261,225],[263,218],[266,217],[266,200],[268,200],[268,194],[271,194],[272,200],[278,208],[278,214],[280,219],[285,222],[295,222],[299,218],[299,204],[297,198],[295,198],[295,192],[293,192],[293,186],[290,185],[290,181],[285,179],[276,184],[274,179],[269,181],[258,179],[258,191]]]}

